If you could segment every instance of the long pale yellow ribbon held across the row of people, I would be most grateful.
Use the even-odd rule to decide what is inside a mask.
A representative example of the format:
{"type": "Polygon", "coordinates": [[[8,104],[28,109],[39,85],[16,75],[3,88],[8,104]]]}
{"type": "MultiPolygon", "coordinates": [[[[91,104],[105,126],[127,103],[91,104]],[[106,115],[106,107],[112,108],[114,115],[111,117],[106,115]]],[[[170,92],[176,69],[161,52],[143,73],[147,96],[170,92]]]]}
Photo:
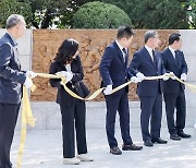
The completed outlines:
{"type": "MultiPolygon", "coordinates": [[[[77,94],[75,94],[74,92],[72,92],[70,88],[66,87],[66,79],[65,76],[60,75],[60,73],[57,74],[47,74],[47,73],[36,73],[37,76],[40,77],[46,77],[46,79],[61,79],[61,84],[63,85],[64,89],[74,98],[81,99],[81,100],[91,100],[94,98],[96,98],[103,89],[99,88],[96,92],[94,92],[89,97],[87,98],[83,98],[81,96],[78,96],[77,94]]],[[[174,75],[169,75],[169,77],[174,76],[174,75]]],[[[146,76],[144,80],[161,80],[163,79],[163,75],[159,75],[159,76],[146,76]]],[[[182,80],[180,80],[179,77],[176,77],[176,81],[179,81],[180,83],[186,85],[187,87],[189,87],[193,92],[196,92],[196,85],[193,84],[188,84],[182,80]]],[[[122,89],[123,87],[127,86],[128,84],[133,83],[132,81],[128,81],[115,88],[112,89],[112,94],[122,89]]],[[[33,92],[35,91],[36,86],[33,85],[33,87],[30,88],[33,92]]],[[[24,143],[26,140],[26,125],[29,124],[32,127],[35,125],[35,119],[33,117],[32,113],[32,109],[30,109],[30,104],[29,104],[29,98],[28,98],[28,94],[27,94],[27,89],[25,88],[25,86],[23,86],[23,108],[22,108],[22,123],[21,123],[21,142],[20,142],[20,149],[19,149],[19,157],[17,157],[17,168],[21,168],[21,164],[22,164],[22,156],[23,156],[23,152],[24,152],[24,143]]]]}

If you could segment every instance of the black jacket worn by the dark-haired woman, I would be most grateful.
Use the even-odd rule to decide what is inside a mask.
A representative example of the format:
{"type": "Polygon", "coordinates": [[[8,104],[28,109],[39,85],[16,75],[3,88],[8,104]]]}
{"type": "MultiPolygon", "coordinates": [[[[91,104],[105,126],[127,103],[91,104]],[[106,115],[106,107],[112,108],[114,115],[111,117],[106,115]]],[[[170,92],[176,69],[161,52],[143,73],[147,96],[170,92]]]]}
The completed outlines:
{"type": "MultiPolygon", "coordinates": [[[[65,65],[60,63],[59,61],[54,60],[50,65],[49,73],[54,74],[54,73],[60,72],[60,71],[66,71],[65,65]]],[[[73,91],[74,93],[78,94],[83,89],[79,82],[84,77],[83,67],[82,67],[82,63],[81,63],[79,56],[77,56],[76,59],[74,59],[72,61],[71,71],[74,73],[74,75],[73,75],[73,79],[71,80],[71,82],[66,83],[66,86],[71,91],[73,91]]],[[[60,105],[63,104],[63,105],[66,105],[66,106],[71,106],[72,104],[74,104],[76,98],[74,98],[70,94],[68,94],[64,91],[64,87],[60,84],[60,82],[61,82],[60,79],[50,79],[50,85],[52,87],[58,88],[57,103],[60,104],[60,105]]]]}

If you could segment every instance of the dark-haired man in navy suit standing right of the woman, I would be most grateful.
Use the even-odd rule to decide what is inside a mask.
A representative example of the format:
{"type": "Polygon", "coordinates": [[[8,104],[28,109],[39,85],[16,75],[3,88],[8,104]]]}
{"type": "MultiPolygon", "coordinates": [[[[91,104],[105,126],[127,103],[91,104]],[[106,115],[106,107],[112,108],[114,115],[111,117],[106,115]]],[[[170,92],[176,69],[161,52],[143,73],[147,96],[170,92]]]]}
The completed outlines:
{"type": "Polygon", "coordinates": [[[118,142],[114,137],[114,124],[117,111],[120,116],[120,127],[123,139],[123,151],[138,151],[142,146],[133,144],[130,136],[130,109],[127,92],[128,87],[112,94],[112,88],[124,84],[132,75],[127,75],[128,62],[128,46],[132,43],[133,31],[130,26],[122,26],[118,29],[117,40],[109,45],[101,59],[100,74],[102,76],[102,86],[106,104],[107,104],[107,118],[106,130],[110,153],[121,155],[122,152],[118,147],[118,142]]]}

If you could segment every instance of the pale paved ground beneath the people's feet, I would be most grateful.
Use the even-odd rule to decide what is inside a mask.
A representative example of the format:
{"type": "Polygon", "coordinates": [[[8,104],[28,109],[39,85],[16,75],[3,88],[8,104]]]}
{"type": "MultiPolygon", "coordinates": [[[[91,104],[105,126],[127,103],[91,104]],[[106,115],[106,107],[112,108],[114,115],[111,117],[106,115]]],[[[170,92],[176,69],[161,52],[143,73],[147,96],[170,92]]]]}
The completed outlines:
{"type": "MultiPolygon", "coordinates": [[[[62,164],[62,142],[60,130],[28,130],[23,156],[23,168],[196,168],[196,131],[186,129],[193,135],[189,140],[180,142],[169,140],[167,129],[162,129],[162,137],[167,145],[156,144],[144,147],[140,152],[123,152],[121,156],[109,153],[103,129],[88,129],[88,153],[95,159],[93,163],[81,163],[78,166],[62,164]]],[[[121,146],[120,130],[117,129],[119,146],[121,146]]],[[[140,130],[133,129],[132,137],[143,145],[140,130]]],[[[20,132],[15,133],[12,146],[12,163],[16,164],[20,132]]],[[[14,166],[16,168],[16,166],[14,166]]]]}

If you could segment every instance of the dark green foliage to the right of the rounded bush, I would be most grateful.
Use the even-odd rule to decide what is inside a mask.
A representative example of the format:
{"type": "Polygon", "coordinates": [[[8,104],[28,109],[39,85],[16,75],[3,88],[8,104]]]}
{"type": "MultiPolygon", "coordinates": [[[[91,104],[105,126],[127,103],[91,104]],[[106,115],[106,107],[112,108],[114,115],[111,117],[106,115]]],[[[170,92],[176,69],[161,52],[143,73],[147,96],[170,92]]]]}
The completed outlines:
{"type": "MultiPolygon", "coordinates": [[[[188,28],[191,0],[102,0],[123,9],[135,28],[188,28]]],[[[193,0],[195,1],[195,0],[193,0]]]]}

